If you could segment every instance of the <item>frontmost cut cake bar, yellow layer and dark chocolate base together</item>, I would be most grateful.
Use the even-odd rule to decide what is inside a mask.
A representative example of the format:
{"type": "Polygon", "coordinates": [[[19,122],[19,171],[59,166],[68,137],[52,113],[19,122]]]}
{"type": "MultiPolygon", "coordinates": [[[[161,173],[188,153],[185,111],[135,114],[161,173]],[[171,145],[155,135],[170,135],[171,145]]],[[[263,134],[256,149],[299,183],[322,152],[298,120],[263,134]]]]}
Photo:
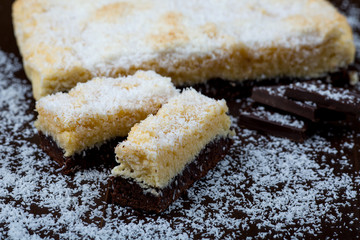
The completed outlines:
{"type": "Polygon", "coordinates": [[[222,158],[230,146],[225,100],[184,90],[136,124],[116,149],[112,202],[161,212],[222,158]]]}

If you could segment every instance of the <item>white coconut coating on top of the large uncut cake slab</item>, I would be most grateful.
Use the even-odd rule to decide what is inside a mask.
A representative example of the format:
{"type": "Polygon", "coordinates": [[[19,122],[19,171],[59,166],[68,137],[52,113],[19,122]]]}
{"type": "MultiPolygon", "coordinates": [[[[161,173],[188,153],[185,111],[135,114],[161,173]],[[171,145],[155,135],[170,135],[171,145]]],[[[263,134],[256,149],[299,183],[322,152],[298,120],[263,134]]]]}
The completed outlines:
{"type": "MultiPolygon", "coordinates": [[[[156,41],[156,36],[163,37],[158,42],[164,42],[165,48],[162,51],[168,51],[169,37],[164,36],[163,32],[172,28],[172,38],[177,41],[171,46],[175,48],[177,58],[186,57],[195,48],[199,54],[204,54],[214,47],[229,47],[233,39],[254,49],[272,46],[275,41],[287,48],[302,44],[316,46],[323,41],[325,33],[316,32],[312,25],[309,25],[310,30],[295,31],[299,26],[298,23],[291,24],[292,17],[299,16],[300,20],[304,16],[331,19],[336,13],[330,6],[316,2],[310,8],[306,1],[293,1],[291,4],[280,1],[242,1],[240,4],[238,1],[228,1],[226,4],[217,1],[206,4],[201,1],[152,1],[149,4],[104,0],[74,1],[69,6],[53,0],[42,2],[42,9],[43,11],[32,14],[32,18],[41,23],[41,26],[38,24],[38,28],[31,34],[41,34],[43,43],[59,49],[71,48],[75,55],[63,53],[63,59],[59,61],[62,65],[59,67],[69,69],[80,61],[87,69],[92,69],[92,72],[111,71],[111,66],[131,67],[153,59],[161,54],[154,51],[159,43],[149,44],[156,41]],[[111,8],[114,11],[110,11],[111,8]],[[115,10],[119,8],[125,8],[126,12],[116,14],[115,10]],[[234,8],[237,10],[234,11],[234,8]],[[138,13],[136,21],[134,12],[138,13]],[[169,12],[176,12],[178,15],[167,19],[169,12]],[[287,18],[289,21],[284,20],[287,18]],[[124,24],[126,21],[128,24],[124,24]],[[167,22],[170,26],[166,25],[167,22]],[[232,23],[237,24],[234,26],[232,23]],[[213,28],[216,31],[212,35],[208,33],[208,36],[206,32],[211,32],[213,28]],[[42,34],[49,31],[51,34],[42,34]],[[132,40],[129,41],[129,38],[132,40]],[[187,39],[197,41],[184,44],[187,39]],[[84,42],[87,44],[83,44],[84,42]]],[[[23,31],[19,32],[20,36],[29,30],[23,31]]],[[[38,42],[38,37],[27,36],[30,36],[29,41],[38,42]]],[[[162,67],[169,66],[166,61],[160,64],[162,67]]]]}

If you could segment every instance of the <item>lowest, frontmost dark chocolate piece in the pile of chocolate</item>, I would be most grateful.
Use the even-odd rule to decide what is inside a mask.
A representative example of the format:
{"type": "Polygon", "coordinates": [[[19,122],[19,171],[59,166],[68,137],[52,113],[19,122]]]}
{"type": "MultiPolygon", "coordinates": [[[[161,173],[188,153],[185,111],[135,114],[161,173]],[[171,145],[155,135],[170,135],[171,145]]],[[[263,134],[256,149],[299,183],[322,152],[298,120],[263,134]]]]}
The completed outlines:
{"type": "Polygon", "coordinates": [[[308,135],[308,124],[304,120],[256,104],[241,112],[239,117],[242,126],[297,142],[303,142],[308,135]]]}

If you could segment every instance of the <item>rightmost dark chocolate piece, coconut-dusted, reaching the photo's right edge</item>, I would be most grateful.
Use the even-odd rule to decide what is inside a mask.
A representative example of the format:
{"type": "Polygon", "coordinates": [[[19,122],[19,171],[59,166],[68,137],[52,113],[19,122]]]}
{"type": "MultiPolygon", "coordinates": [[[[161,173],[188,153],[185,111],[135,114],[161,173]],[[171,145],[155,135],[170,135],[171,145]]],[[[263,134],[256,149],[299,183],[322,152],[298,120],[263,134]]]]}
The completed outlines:
{"type": "Polygon", "coordinates": [[[338,112],[357,114],[360,111],[360,95],[321,81],[290,84],[285,90],[285,96],[301,101],[313,101],[321,107],[338,112]]]}

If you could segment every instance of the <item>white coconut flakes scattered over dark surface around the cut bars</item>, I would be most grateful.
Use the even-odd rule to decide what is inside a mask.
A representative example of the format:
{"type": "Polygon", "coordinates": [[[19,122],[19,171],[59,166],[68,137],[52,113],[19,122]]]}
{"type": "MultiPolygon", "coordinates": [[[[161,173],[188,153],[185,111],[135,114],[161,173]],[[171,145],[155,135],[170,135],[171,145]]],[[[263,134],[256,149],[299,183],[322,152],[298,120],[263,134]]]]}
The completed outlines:
{"type": "Polygon", "coordinates": [[[350,137],[337,151],[318,135],[303,144],[259,137],[237,118],[230,154],[164,213],[106,204],[110,169],[61,175],[34,143],[31,87],[20,69],[0,51],[0,239],[316,238],[342,223],[340,233],[360,231],[350,137]]]}

